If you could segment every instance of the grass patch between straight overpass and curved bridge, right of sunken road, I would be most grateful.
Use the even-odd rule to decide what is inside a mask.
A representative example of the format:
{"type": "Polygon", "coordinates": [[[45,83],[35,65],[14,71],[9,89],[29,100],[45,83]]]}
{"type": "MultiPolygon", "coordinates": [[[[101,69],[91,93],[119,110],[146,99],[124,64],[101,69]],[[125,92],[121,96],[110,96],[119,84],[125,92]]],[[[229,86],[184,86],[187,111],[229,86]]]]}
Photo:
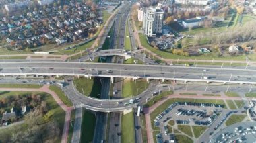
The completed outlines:
{"type": "Polygon", "coordinates": [[[146,82],[146,79],[137,79],[136,81],[133,81],[133,79],[124,79],[122,86],[122,95],[124,98],[136,96],[145,91],[147,87],[148,83],[146,82]]]}

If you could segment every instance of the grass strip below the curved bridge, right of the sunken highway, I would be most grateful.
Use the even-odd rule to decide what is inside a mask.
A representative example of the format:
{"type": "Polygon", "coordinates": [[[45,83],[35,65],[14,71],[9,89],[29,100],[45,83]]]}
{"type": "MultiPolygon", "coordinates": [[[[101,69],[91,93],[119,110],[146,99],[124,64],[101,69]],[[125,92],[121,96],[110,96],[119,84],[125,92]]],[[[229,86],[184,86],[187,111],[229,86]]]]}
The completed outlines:
{"type": "Polygon", "coordinates": [[[121,119],[121,142],[130,143],[135,142],[135,129],[134,129],[134,118],[133,111],[123,115],[121,119]]]}

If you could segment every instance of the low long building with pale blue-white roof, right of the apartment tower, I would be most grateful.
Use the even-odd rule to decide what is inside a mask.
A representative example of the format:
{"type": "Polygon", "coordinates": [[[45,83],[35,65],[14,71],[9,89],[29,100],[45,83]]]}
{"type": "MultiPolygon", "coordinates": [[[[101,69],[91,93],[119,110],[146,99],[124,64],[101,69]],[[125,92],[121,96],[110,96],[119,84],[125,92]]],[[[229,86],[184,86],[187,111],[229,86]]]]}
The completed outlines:
{"type": "Polygon", "coordinates": [[[203,24],[204,19],[205,17],[196,17],[192,19],[185,19],[181,21],[181,23],[185,28],[195,28],[201,26],[203,24]]]}

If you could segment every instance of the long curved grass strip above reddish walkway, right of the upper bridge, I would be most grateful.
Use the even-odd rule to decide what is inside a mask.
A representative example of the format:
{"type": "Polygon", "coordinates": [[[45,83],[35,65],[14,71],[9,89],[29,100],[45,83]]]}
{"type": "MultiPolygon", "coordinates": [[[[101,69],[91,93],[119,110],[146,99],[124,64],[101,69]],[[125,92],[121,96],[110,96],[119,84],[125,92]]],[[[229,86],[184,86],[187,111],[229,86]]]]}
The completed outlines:
{"type": "MultiPolygon", "coordinates": [[[[153,48],[150,44],[148,44],[146,40],[146,36],[143,36],[142,34],[139,34],[139,39],[141,40],[141,45],[150,50],[151,52],[154,52],[158,56],[166,59],[192,59],[192,60],[245,60],[246,56],[249,57],[250,60],[256,59],[256,54],[250,54],[250,55],[241,55],[241,56],[218,56],[218,54],[214,52],[210,52],[208,54],[201,54],[199,56],[179,56],[177,54],[172,54],[171,50],[157,50],[156,48],[153,48]]],[[[209,64],[209,63],[207,63],[209,64]]]]}

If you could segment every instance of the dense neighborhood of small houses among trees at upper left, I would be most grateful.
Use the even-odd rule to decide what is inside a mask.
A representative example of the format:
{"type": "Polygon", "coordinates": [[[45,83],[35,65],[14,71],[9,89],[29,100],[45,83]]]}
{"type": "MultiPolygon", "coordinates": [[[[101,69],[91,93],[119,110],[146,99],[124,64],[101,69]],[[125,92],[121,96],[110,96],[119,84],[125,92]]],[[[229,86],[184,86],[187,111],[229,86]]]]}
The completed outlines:
{"type": "Polygon", "coordinates": [[[59,7],[44,5],[19,15],[1,17],[0,38],[18,50],[86,40],[102,24],[95,8],[78,2],[59,7]]]}

